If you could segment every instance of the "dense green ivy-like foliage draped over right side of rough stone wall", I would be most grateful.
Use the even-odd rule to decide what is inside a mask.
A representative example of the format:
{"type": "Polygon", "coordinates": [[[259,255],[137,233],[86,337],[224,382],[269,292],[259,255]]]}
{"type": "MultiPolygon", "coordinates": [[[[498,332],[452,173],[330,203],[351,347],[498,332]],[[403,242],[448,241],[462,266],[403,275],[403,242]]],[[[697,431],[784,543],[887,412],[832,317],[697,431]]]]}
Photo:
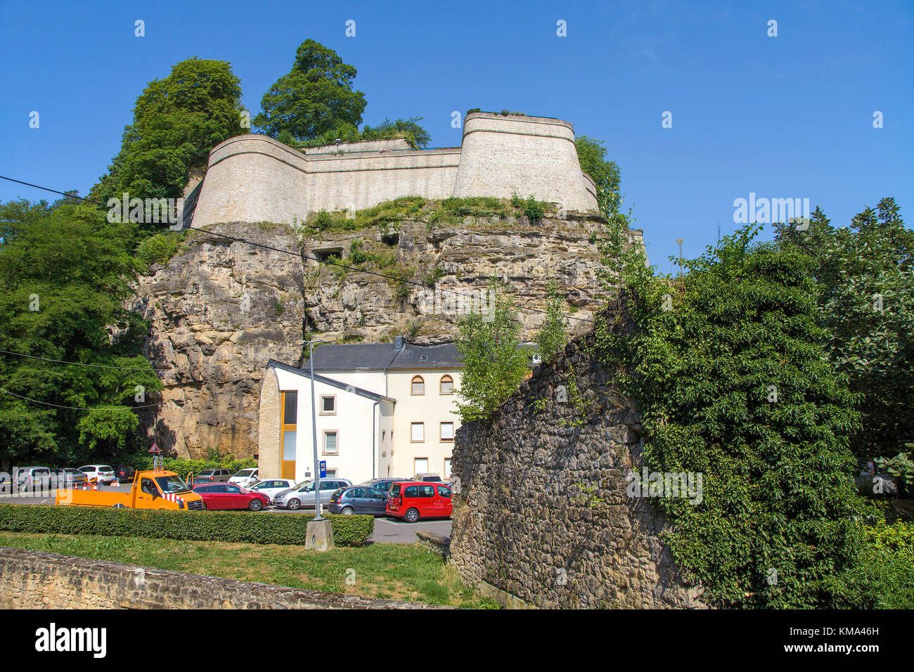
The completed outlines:
{"type": "MultiPolygon", "coordinates": [[[[845,375],[824,357],[813,264],[743,229],[684,261],[682,280],[633,269],[633,334],[600,323],[605,361],[643,421],[643,465],[702,476],[700,503],[655,501],[688,581],[724,606],[833,602],[860,514],[845,375]]],[[[638,469],[638,467],[635,467],[638,469]]]]}

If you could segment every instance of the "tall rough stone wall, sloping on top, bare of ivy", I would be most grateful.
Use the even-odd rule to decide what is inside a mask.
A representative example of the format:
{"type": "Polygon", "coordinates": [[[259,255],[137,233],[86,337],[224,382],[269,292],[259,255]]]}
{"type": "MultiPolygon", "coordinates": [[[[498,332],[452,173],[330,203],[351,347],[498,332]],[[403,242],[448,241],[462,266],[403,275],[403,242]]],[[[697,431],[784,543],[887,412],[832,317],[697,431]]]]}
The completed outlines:
{"type": "MultiPolygon", "coordinates": [[[[611,309],[614,328],[629,328],[611,309]]],[[[660,539],[661,512],[626,495],[641,425],[593,343],[593,332],[573,340],[491,423],[457,432],[452,562],[464,581],[532,606],[701,607],[660,539]]]]}

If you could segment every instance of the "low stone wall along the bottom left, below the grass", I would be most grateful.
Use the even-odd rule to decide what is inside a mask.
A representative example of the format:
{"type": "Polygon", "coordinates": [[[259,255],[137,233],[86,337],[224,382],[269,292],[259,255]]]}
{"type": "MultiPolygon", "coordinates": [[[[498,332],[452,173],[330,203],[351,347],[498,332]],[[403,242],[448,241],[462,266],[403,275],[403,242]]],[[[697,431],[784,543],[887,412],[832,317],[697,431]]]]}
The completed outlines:
{"type": "Polygon", "coordinates": [[[0,548],[0,609],[424,609],[58,553],[0,548]]]}

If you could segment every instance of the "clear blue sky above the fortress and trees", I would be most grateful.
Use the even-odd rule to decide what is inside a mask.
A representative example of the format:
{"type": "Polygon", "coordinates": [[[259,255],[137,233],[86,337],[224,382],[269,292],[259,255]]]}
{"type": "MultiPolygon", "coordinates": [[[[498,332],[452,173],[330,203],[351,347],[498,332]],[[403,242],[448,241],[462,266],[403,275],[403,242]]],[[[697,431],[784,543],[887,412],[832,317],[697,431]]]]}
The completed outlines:
{"type": "MultiPolygon", "coordinates": [[[[253,114],[312,37],[358,69],[366,123],[421,116],[431,146],[453,146],[452,111],[506,108],[604,141],[662,271],[675,239],[696,256],[718,224],[735,229],[749,192],[808,197],[838,225],[893,196],[910,226],[914,2],[743,5],[6,0],[0,175],[85,195],[148,81],[192,56],[228,60],[253,114]]],[[[0,200],[17,197],[53,199],[0,181],[0,200]]]]}

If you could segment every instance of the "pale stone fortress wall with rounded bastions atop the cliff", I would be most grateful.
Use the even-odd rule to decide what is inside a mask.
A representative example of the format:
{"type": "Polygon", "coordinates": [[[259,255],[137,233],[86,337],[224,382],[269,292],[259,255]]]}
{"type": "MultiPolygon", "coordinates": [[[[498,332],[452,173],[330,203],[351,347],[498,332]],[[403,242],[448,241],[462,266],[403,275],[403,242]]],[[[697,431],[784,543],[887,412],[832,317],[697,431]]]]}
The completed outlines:
{"type": "Polygon", "coordinates": [[[292,224],[321,209],[371,208],[402,196],[533,194],[568,210],[597,209],[570,123],[473,112],[462,147],[412,149],[402,139],[292,149],[265,135],[218,144],[194,214],[195,228],[226,221],[292,224]]]}

